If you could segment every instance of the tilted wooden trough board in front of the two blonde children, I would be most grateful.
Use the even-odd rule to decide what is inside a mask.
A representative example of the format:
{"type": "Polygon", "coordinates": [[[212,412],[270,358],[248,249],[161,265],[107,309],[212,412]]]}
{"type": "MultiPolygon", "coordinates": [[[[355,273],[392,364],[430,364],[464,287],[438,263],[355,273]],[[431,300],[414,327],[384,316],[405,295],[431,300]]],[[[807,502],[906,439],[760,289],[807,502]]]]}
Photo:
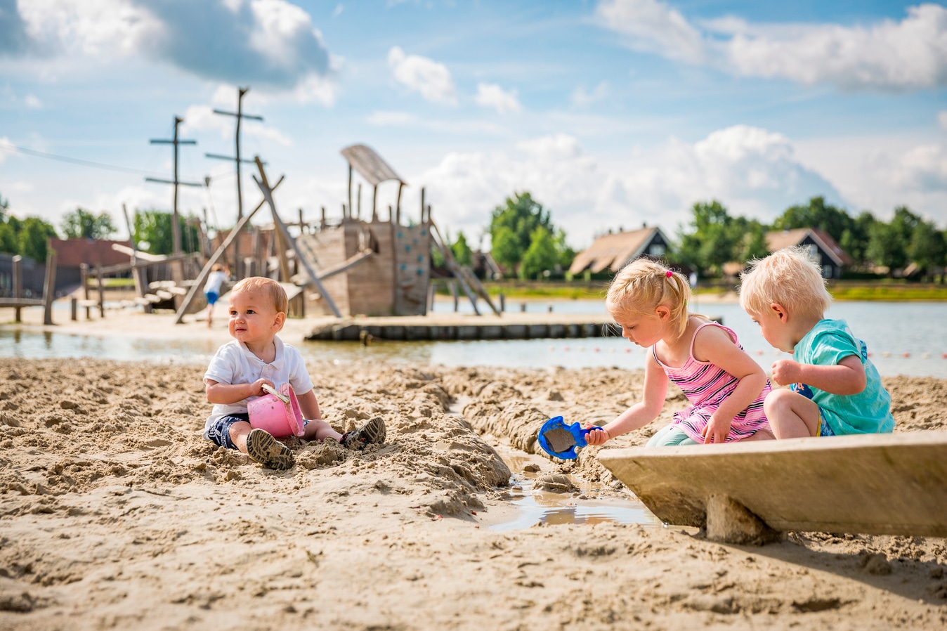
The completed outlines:
{"type": "Polygon", "coordinates": [[[703,527],[729,496],[777,531],[947,536],[947,431],[602,449],[661,521],[703,527]]]}

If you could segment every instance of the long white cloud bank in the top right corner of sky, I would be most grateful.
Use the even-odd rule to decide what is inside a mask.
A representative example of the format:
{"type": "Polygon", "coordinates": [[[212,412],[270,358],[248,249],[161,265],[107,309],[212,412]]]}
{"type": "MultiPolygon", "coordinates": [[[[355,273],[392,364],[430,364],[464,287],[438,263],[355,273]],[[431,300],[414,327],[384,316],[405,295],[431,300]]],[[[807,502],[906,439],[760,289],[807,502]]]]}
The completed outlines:
{"type": "Polygon", "coordinates": [[[599,24],[629,45],[750,77],[902,91],[947,85],[947,8],[922,4],[870,27],[709,20],[704,30],[656,0],[605,0],[599,24]]]}

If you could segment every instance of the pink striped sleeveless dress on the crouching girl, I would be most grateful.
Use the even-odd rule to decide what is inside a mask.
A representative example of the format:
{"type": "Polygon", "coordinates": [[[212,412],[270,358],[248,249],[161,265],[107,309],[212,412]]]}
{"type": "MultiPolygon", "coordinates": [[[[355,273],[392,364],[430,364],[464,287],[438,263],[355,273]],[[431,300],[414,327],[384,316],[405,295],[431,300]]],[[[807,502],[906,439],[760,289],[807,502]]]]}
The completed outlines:
{"type": "MultiPolygon", "coordinates": [[[[740,381],[719,366],[715,366],[710,362],[698,361],[694,358],[694,339],[697,338],[697,332],[707,326],[720,327],[730,336],[734,344],[740,346],[737,334],[733,331],[722,324],[707,322],[697,327],[697,331],[694,332],[694,336],[690,340],[688,361],[681,368],[671,368],[663,364],[657,358],[657,352],[652,347],[654,361],[664,369],[670,381],[681,388],[684,396],[688,397],[690,402],[690,406],[687,408],[680,412],[674,412],[674,420],[671,423],[680,425],[684,433],[696,442],[704,442],[701,432],[704,431],[710,421],[710,415],[717,411],[724,399],[737,388],[740,381]]],[[[740,350],[743,350],[742,346],[740,346],[740,350]]],[[[767,379],[766,385],[756,400],[734,417],[733,424],[730,425],[730,433],[727,435],[725,442],[740,441],[756,433],[759,429],[769,429],[769,423],[763,413],[763,399],[766,398],[771,389],[767,379]]]]}

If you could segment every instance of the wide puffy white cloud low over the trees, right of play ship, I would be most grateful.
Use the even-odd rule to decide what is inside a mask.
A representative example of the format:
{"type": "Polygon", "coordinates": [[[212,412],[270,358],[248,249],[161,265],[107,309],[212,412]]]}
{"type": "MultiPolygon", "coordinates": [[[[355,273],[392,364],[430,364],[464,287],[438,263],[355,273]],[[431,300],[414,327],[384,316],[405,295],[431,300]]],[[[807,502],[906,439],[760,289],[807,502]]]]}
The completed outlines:
{"type": "Polygon", "coordinates": [[[718,199],[731,214],[766,221],[813,195],[840,201],[825,178],[799,162],[791,140],[746,126],[692,144],[671,139],[617,164],[586,153],[571,135],[547,135],[511,151],[449,153],[409,179],[427,187],[436,218],[438,208],[449,208],[442,223],[468,235],[482,230],[506,197],[527,190],[578,247],[619,225],[662,225],[673,233],[698,201],[718,199]]]}

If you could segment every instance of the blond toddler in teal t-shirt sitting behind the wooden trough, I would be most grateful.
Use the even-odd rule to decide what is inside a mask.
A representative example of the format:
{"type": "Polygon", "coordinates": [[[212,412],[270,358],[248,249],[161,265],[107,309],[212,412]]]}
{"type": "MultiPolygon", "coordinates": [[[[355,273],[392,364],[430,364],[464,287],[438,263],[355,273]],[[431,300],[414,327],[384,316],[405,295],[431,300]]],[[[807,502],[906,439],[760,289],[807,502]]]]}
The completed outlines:
{"type": "Polygon", "coordinates": [[[766,397],[777,439],[890,432],[891,396],[868,359],[865,342],[845,320],[825,319],[831,296],[818,264],[803,247],[788,247],[742,274],[740,305],[775,348],[778,388],[766,397]]]}

